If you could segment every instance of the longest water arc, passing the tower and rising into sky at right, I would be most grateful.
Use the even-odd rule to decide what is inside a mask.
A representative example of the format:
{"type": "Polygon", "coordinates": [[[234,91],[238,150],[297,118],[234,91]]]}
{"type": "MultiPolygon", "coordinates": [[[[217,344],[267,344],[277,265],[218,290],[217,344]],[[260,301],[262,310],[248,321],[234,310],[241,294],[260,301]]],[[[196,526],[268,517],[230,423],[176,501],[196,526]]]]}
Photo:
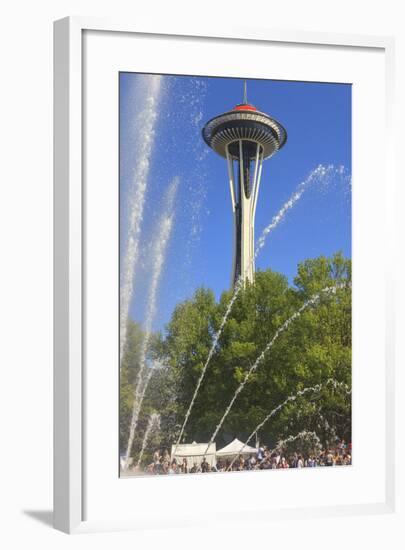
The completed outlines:
{"type": "MultiPolygon", "coordinates": [[[[299,201],[299,199],[303,195],[304,191],[307,189],[307,187],[310,184],[317,183],[317,182],[318,183],[323,183],[328,178],[332,178],[334,176],[343,176],[343,174],[344,174],[344,167],[343,166],[335,167],[333,164],[329,164],[327,166],[325,166],[323,164],[319,164],[314,170],[312,170],[310,172],[310,174],[307,176],[307,178],[297,186],[294,193],[283,204],[283,206],[278,211],[278,213],[272,218],[271,222],[263,229],[262,234],[261,234],[259,240],[257,241],[255,253],[254,253],[254,256],[252,258],[252,262],[254,262],[257,259],[260,251],[262,250],[262,248],[264,247],[264,245],[266,243],[266,239],[267,239],[268,235],[272,231],[274,231],[274,229],[276,229],[276,227],[283,221],[283,219],[285,218],[287,212],[289,210],[291,210],[293,208],[293,206],[299,201]]],[[[208,365],[210,364],[212,356],[215,353],[215,350],[216,350],[216,347],[218,345],[218,341],[219,341],[219,339],[222,335],[224,326],[225,326],[225,324],[228,320],[228,317],[229,317],[229,315],[232,311],[233,305],[236,301],[236,298],[238,297],[239,292],[244,287],[244,281],[245,281],[245,276],[239,277],[238,280],[236,281],[236,283],[234,285],[231,300],[230,300],[230,302],[229,302],[229,304],[226,308],[225,314],[224,314],[224,316],[221,320],[221,324],[219,326],[219,329],[214,334],[214,339],[212,341],[211,348],[209,350],[207,359],[204,363],[204,367],[201,371],[200,377],[197,381],[197,385],[195,387],[193,397],[191,398],[190,405],[187,409],[187,412],[186,412],[186,415],[185,415],[185,418],[184,418],[184,421],[183,421],[183,425],[182,425],[181,430],[180,430],[180,434],[177,438],[177,442],[176,442],[176,445],[175,445],[175,451],[177,450],[177,447],[181,442],[181,438],[183,437],[183,433],[184,433],[185,427],[187,425],[188,419],[190,417],[191,410],[194,406],[194,403],[195,403],[195,400],[197,398],[198,392],[200,390],[201,384],[204,380],[205,373],[207,372],[207,369],[208,369],[208,365]]]]}

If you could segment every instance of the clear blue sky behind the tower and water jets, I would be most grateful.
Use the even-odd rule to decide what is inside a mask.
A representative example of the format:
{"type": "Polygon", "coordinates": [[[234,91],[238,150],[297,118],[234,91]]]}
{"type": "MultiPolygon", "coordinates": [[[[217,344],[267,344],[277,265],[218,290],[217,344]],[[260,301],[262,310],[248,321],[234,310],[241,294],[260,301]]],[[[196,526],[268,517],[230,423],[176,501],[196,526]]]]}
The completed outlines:
{"type": "MultiPolygon", "coordinates": [[[[121,260],[126,249],[128,193],[136,154],[136,115],[145,101],[148,75],[120,74],[121,260]]],[[[264,162],[256,213],[256,238],[297,185],[319,164],[351,172],[351,86],[349,84],[248,80],[248,100],[287,130],[283,149],[264,162]]],[[[243,80],[164,77],[142,222],[141,255],[130,317],[142,322],[150,281],[150,244],[164,191],[178,176],[175,224],[167,251],[154,328],[163,329],[175,305],[196,288],[229,289],[232,214],[224,159],[209,149],[201,129],[210,118],[241,103],[243,80]]],[[[269,235],[257,269],[271,268],[292,283],[297,264],[321,254],[351,256],[351,189],[336,178],[314,185],[269,235]]]]}

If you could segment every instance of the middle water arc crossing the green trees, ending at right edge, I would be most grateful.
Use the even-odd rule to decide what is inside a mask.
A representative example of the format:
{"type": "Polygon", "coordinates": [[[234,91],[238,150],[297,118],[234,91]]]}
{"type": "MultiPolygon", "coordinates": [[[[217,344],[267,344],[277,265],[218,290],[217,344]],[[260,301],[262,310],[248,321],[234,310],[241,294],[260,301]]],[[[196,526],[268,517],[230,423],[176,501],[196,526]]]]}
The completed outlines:
{"type": "Polygon", "coordinates": [[[240,383],[240,385],[237,387],[234,395],[232,396],[232,399],[231,401],[229,402],[229,405],[227,406],[227,408],[225,409],[225,412],[221,418],[221,420],[219,421],[217,427],[215,428],[215,431],[214,433],[212,434],[211,438],[210,438],[210,441],[208,443],[208,446],[207,446],[207,449],[205,450],[205,453],[204,453],[204,456],[206,455],[206,453],[208,452],[208,449],[209,449],[209,446],[215,441],[215,438],[216,436],[218,435],[218,432],[219,430],[221,429],[222,427],[222,424],[224,423],[226,417],[228,416],[229,412],[231,411],[232,407],[233,407],[233,404],[235,403],[236,401],[236,398],[238,397],[238,395],[241,393],[241,391],[243,390],[243,388],[245,387],[245,385],[247,384],[250,376],[255,372],[255,370],[258,368],[258,366],[260,365],[260,363],[263,361],[263,359],[265,358],[267,352],[273,347],[274,343],[276,342],[276,340],[278,339],[278,337],[288,329],[288,327],[291,325],[291,323],[293,323],[296,319],[298,319],[301,314],[303,313],[303,311],[305,311],[308,307],[310,306],[314,306],[315,304],[317,304],[321,298],[322,295],[330,295],[330,294],[335,294],[336,291],[339,289],[339,288],[344,288],[346,286],[346,283],[337,283],[336,285],[334,286],[330,286],[330,287],[326,287],[324,289],[322,289],[318,294],[315,294],[314,296],[312,296],[311,298],[309,298],[308,300],[306,300],[302,306],[293,314],[291,315],[291,317],[289,317],[287,319],[287,321],[285,321],[281,327],[279,327],[273,338],[267,343],[266,347],[264,348],[264,350],[261,352],[261,354],[259,355],[259,357],[256,359],[256,361],[254,362],[254,364],[250,367],[250,369],[248,370],[248,372],[246,373],[244,379],[242,380],[242,382],[240,383]]]}

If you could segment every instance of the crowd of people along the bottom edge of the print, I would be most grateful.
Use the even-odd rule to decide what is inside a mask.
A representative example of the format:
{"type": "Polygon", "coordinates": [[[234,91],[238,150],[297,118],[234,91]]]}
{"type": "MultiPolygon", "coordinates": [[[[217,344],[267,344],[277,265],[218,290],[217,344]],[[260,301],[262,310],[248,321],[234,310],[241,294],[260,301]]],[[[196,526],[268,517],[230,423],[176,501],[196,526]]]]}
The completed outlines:
{"type": "Polygon", "coordinates": [[[275,470],[288,468],[315,468],[322,466],[349,466],[352,463],[351,443],[340,440],[331,448],[316,453],[286,453],[282,449],[270,450],[268,447],[258,447],[255,454],[248,456],[220,458],[216,462],[209,462],[206,457],[200,461],[187,458],[171,458],[166,449],[161,453],[157,449],[153,454],[152,462],[145,468],[150,475],[193,474],[208,472],[248,471],[248,470],[275,470]]]}

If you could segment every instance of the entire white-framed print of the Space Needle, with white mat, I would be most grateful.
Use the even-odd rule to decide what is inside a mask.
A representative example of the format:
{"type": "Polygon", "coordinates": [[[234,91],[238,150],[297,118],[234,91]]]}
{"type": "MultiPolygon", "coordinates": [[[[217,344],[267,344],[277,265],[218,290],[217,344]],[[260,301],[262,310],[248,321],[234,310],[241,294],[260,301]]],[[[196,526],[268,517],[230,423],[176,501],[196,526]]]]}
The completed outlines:
{"type": "Polygon", "coordinates": [[[56,22],[57,528],[395,515],[392,51],[56,22]]]}

